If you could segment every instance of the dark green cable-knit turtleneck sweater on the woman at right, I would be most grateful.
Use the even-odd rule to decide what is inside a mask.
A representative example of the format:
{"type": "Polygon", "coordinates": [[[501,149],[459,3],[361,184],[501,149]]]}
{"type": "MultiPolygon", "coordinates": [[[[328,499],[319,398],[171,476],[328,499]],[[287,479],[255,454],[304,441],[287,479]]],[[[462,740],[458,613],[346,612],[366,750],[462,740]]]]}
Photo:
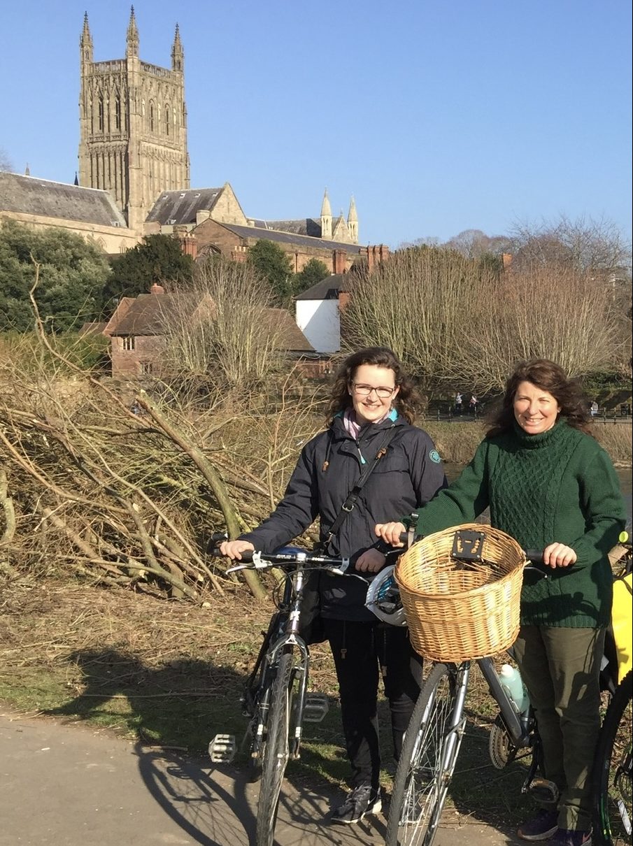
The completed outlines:
{"type": "Polygon", "coordinates": [[[515,424],[486,438],[459,479],[417,512],[418,532],[471,523],[488,506],[491,525],[523,549],[559,542],[577,556],[570,567],[542,565],[548,579],[526,572],[521,624],[608,624],[613,595],[608,552],[625,527],[625,503],[613,464],[593,437],[559,420],[538,435],[515,424]]]}

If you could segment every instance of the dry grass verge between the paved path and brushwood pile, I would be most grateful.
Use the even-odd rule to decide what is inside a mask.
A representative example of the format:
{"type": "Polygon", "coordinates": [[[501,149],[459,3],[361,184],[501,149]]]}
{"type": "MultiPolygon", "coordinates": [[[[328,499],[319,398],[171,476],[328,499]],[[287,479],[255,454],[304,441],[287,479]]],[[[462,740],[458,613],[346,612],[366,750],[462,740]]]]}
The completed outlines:
{"type": "MultiPolygon", "coordinates": [[[[217,733],[234,734],[239,744],[245,731],[239,695],[271,607],[244,588],[226,589],[212,608],[202,608],[76,582],[5,584],[0,699],[25,713],[87,722],[192,755],[205,755],[217,733]]],[[[344,788],[349,765],[327,645],[311,647],[311,686],[328,695],[330,709],[323,722],[305,724],[301,760],[291,762],[288,777],[317,791],[325,784],[344,788]]],[[[469,728],[448,805],[461,815],[514,824],[529,806],[520,797],[524,767],[498,773],[488,759],[495,711],[477,671],[467,706],[469,728]]],[[[394,765],[384,700],[379,719],[389,789],[394,765]]],[[[245,763],[244,751],[237,763],[245,763]]]]}

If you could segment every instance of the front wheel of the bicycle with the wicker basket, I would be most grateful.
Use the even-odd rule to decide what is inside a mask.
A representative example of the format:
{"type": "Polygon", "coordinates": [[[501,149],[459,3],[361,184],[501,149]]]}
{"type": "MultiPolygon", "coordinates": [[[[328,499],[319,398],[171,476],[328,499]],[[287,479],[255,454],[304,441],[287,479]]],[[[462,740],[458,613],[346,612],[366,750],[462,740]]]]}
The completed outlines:
{"type": "Polygon", "coordinates": [[[389,806],[386,846],[431,846],[463,732],[449,732],[456,701],[454,671],[436,664],[405,733],[389,806]]]}

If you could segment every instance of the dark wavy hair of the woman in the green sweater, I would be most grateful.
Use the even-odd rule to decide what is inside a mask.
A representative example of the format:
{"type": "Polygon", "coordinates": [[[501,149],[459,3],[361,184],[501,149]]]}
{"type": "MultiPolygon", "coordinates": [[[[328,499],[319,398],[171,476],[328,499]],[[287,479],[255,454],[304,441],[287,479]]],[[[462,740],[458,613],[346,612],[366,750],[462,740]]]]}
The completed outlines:
{"type": "Polygon", "coordinates": [[[568,378],[560,365],[548,359],[520,361],[505,383],[504,398],[500,407],[488,420],[486,437],[501,435],[515,423],[515,393],[521,382],[531,382],[551,393],[560,406],[559,418],[564,417],[570,426],[591,434],[589,404],[582,388],[575,379],[568,378]]]}

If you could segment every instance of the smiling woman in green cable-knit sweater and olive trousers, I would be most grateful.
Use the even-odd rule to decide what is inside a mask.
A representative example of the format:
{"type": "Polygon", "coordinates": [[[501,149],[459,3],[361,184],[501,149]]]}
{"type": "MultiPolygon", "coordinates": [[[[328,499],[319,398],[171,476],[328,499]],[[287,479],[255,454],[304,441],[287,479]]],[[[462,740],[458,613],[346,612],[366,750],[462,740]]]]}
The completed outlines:
{"type": "MultiPolygon", "coordinates": [[[[526,573],[514,651],[537,714],[545,775],[560,799],[558,810],[541,808],[518,834],[587,846],[612,600],[608,552],[625,526],[625,503],[613,464],[589,432],[580,388],[552,361],[516,367],[471,464],[417,512],[417,531],[471,523],[485,508],[491,525],[523,549],[543,550],[548,572],[548,579],[526,573]]],[[[377,525],[376,534],[401,546],[405,522],[377,525]]]]}

